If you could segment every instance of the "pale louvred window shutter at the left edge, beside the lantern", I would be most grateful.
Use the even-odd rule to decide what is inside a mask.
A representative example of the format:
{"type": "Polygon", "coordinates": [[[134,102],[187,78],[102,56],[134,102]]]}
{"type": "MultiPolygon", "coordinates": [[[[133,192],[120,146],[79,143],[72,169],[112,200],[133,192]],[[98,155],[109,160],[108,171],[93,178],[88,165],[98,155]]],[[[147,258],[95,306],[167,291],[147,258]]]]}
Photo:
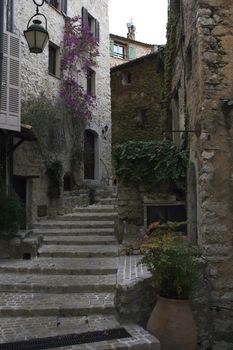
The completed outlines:
{"type": "Polygon", "coordinates": [[[20,37],[4,33],[0,128],[20,131],[20,37]]]}

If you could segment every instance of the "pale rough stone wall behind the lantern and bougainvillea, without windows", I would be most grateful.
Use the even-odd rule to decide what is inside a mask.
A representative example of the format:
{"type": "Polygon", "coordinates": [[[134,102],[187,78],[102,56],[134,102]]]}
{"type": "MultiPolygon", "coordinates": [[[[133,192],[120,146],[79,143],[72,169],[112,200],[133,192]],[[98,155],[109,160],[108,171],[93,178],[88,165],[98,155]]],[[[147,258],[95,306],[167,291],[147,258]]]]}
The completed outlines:
{"type": "MultiPolygon", "coordinates": [[[[96,151],[96,162],[98,162],[97,183],[109,182],[111,179],[111,111],[110,111],[110,72],[109,72],[109,22],[108,22],[108,1],[101,0],[70,0],[68,2],[68,16],[80,15],[82,6],[86,7],[89,13],[100,22],[100,56],[97,58],[96,72],[96,107],[93,110],[92,118],[87,123],[87,128],[98,135],[98,151],[96,151]],[[107,132],[103,133],[107,126],[107,132]]],[[[61,12],[48,5],[46,2],[40,11],[46,15],[48,20],[48,32],[50,41],[62,48],[63,28],[65,17],[61,12]]],[[[15,32],[21,35],[22,42],[22,100],[39,96],[43,93],[51,101],[59,99],[61,79],[48,72],[48,46],[43,54],[29,53],[28,46],[23,36],[23,30],[29,18],[35,13],[35,6],[31,0],[25,0],[22,5],[15,2],[15,32]]],[[[61,50],[62,58],[62,50],[61,50]]],[[[83,79],[84,89],[86,80],[83,79]]],[[[46,116],[45,116],[46,118],[46,116]]],[[[71,171],[69,140],[67,147],[60,153],[64,173],[71,171]]],[[[81,172],[77,178],[83,182],[83,166],[79,164],[78,171],[81,172]]],[[[38,206],[49,206],[47,197],[47,176],[46,169],[41,159],[37,144],[25,142],[14,154],[14,174],[33,177],[32,183],[32,220],[37,217],[38,206]],[[34,207],[35,204],[35,207],[34,207]]],[[[75,174],[76,175],[76,174],[75,174]]]]}

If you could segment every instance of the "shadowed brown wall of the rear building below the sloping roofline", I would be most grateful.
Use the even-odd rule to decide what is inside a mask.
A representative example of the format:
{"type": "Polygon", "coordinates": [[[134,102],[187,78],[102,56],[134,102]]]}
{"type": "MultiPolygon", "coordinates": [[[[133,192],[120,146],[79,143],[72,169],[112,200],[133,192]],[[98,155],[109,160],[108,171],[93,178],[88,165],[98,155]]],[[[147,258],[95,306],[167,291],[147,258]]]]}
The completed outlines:
{"type": "Polygon", "coordinates": [[[113,146],[129,140],[161,139],[162,82],[160,53],[111,69],[113,146]],[[144,116],[140,110],[145,111],[144,116]]]}

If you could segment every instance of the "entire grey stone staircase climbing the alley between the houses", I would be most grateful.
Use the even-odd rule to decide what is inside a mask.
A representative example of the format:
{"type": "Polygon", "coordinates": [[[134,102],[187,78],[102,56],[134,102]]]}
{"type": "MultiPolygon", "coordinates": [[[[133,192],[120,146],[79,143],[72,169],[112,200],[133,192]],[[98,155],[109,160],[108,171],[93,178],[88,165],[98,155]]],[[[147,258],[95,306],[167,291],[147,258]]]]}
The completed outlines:
{"type": "MultiPolygon", "coordinates": [[[[113,197],[39,221],[38,257],[0,261],[0,343],[122,327],[115,318],[118,244],[113,197]]],[[[158,341],[137,325],[129,336],[57,349],[157,350],[158,341]]],[[[2,349],[2,348],[1,348],[2,349]]]]}

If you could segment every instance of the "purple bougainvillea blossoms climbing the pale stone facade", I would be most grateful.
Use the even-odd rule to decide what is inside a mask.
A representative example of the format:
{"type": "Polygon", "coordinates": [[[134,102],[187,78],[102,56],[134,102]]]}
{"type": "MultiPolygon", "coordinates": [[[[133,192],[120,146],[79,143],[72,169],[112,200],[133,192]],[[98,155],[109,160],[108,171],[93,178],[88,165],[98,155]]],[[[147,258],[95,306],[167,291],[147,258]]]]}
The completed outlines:
{"type": "Polygon", "coordinates": [[[95,37],[88,27],[82,25],[80,17],[67,17],[63,40],[63,84],[61,96],[66,107],[76,117],[90,118],[95,97],[88,94],[78,82],[81,72],[87,74],[96,65],[99,55],[95,37]]]}

